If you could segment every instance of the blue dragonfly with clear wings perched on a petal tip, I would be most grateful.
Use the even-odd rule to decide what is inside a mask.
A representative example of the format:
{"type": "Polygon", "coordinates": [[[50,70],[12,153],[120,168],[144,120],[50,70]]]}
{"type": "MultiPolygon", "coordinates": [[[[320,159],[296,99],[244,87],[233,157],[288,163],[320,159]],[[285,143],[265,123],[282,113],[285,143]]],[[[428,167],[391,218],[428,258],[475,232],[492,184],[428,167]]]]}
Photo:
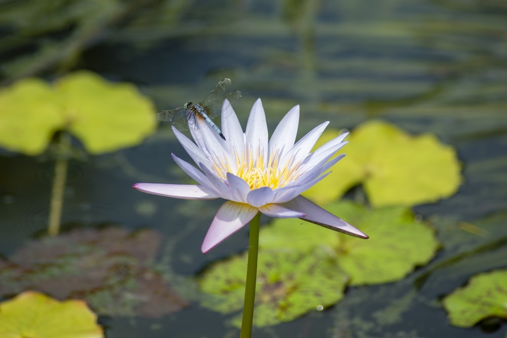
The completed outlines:
{"type": "Polygon", "coordinates": [[[211,119],[220,115],[225,99],[235,100],[241,97],[240,91],[227,92],[229,86],[231,79],[224,78],[199,103],[186,102],[183,107],[161,110],[157,113],[157,118],[160,121],[170,121],[178,130],[188,130],[189,124],[197,129],[197,119],[202,118],[225,140],[224,134],[211,119]]]}

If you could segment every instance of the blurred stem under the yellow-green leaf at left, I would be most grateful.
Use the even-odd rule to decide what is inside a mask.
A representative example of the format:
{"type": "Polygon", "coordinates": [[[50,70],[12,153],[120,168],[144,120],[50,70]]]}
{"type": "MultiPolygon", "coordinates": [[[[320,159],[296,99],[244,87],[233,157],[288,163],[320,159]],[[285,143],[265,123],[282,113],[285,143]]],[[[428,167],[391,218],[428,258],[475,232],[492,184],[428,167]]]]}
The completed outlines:
{"type": "Polygon", "coordinates": [[[49,207],[48,233],[50,236],[58,235],[63,208],[63,192],[67,179],[67,153],[70,147],[69,136],[65,132],[60,133],[58,140],[59,153],[55,163],[53,188],[51,190],[51,203],[49,207]]]}

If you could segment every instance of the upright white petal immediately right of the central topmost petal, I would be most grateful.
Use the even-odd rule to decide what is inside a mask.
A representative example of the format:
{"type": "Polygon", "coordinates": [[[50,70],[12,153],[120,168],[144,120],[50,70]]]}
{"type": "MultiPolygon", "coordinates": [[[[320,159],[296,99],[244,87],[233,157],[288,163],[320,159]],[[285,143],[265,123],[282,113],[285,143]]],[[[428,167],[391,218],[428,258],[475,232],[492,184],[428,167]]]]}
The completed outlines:
{"type": "Polygon", "coordinates": [[[289,151],[296,141],[298,125],[299,105],[289,110],[276,126],[269,140],[269,153],[273,154],[279,151],[279,154],[283,155],[283,152],[289,151]]]}

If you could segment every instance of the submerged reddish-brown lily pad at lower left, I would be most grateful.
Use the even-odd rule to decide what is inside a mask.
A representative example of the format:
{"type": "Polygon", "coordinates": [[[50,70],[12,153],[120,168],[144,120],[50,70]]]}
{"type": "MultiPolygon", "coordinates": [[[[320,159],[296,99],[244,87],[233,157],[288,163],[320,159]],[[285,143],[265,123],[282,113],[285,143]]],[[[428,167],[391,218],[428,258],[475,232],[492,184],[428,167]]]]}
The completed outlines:
{"type": "Polygon", "coordinates": [[[155,231],[116,227],[30,241],[0,262],[0,294],[38,290],[103,315],[160,317],[188,305],[153,268],[160,243],[155,231]]]}

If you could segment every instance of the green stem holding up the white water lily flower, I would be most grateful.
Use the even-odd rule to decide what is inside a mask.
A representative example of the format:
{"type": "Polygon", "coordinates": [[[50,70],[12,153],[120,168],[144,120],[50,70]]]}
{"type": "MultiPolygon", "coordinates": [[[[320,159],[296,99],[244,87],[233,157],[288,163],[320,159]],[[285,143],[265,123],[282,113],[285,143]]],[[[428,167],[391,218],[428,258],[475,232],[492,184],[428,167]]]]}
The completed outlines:
{"type": "Polygon", "coordinates": [[[255,303],[255,286],[257,284],[257,258],[259,256],[259,226],[261,213],[250,221],[250,239],[248,243],[248,266],[246,268],[245,303],[241,322],[240,338],[250,338],[252,334],[253,305],[255,303]]]}

